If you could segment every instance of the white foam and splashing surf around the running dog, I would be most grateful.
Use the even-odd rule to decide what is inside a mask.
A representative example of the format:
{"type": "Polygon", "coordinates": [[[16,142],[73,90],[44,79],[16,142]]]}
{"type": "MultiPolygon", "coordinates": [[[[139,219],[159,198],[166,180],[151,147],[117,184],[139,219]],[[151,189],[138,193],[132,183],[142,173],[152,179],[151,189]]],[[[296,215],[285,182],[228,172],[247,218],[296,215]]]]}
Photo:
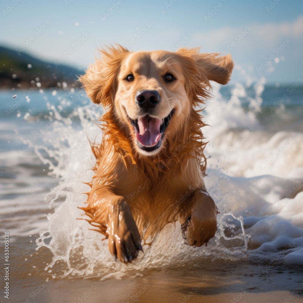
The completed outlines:
{"type": "MultiPolygon", "coordinates": [[[[36,153],[48,163],[53,174],[61,178],[54,189],[57,196],[66,196],[41,231],[38,247],[46,246],[53,253],[49,270],[61,261],[64,275],[121,277],[127,271],[140,271],[163,265],[182,265],[197,259],[213,260],[248,258],[254,262],[278,262],[287,266],[303,265],[303,134],[280,131],[270,133],[256,118],[262,102],[264,83],[255,85],[255,97],[248,98],[246,88],[236,85],[231,101],[214,85],[215,100],[210,100],[204,115],[212,127],[203,129],[210,143],[205,148],[208,176],[205,182],[221,211],[215,238],[206,247],[192,248],[183,244],[180,225],[169,225],[151,247],[144,247],[131,267],[114,262],[107,240],[85,220],[83,206],[93,176],[94,165],[87,136],[101,140],[97,120],[100,110],[87,105],[74,113],[81,127],[69,125],[56,112],[58,122],[48,134],[53,147],[36,147],[36,153]],[[248,110],[240,98],[249,99],[248,110]],[[223,105],[223,106],[222,106],[223,105]],[[212,115],[213,114],[213,115],[212,115]],[[58,118],[59,117],[59,118],[58,118]],[[46,152],[47,156],[44,154],[46,152]],[[64,159],[62,161],[62,159],[64,159]]],[[[53,199],[55,201],[55,199],[53,199]]]]}

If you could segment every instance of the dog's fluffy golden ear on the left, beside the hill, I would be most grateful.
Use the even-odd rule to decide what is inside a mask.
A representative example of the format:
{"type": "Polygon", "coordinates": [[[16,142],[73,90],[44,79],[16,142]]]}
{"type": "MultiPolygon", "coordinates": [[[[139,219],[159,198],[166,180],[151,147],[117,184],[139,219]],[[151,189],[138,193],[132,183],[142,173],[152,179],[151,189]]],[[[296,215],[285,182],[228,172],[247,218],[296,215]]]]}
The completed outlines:
{"type": "Polygon", "coordinates": [[[113,103],[121,60],[129,50],[116,44],[98,51],[102,59],[96,59],[95,63],[90,64],[85,75],[79,77],[79,81],[92,102],[102,103],[106,107],[113,103]]]}

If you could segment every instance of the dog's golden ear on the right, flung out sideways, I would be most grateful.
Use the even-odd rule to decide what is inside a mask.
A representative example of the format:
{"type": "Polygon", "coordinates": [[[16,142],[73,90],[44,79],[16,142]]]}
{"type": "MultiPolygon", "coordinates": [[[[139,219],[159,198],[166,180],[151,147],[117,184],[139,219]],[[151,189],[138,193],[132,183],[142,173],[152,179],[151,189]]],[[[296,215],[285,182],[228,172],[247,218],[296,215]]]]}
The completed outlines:
{"type": "Polygon", "coordinates": [[[227,84],[231,77],[234,62],[231,55],[220,56],[217,53],[199,53],[200,48],[181,48],[178,52],[183,52],[190,56],[196,63],[201,79],[207,85],[209,80],[219,84],[227,84]]]}

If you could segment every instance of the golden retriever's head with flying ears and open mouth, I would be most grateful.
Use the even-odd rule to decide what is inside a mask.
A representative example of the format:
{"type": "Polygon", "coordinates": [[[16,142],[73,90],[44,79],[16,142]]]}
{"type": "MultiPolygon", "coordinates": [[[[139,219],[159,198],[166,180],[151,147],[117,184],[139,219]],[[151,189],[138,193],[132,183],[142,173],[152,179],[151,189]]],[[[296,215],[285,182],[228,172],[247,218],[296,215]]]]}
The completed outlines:
{"type": "Polygon", "coordinates": [[[209,81],[230,79],[230,55],[198,51],[129,52],[117,45],[100,50],[102,60],[90,65],[80,81],[93,102],[112,110],[132,148],[153,156],[186,128],[193,107],[209,97],[209,81]]]}

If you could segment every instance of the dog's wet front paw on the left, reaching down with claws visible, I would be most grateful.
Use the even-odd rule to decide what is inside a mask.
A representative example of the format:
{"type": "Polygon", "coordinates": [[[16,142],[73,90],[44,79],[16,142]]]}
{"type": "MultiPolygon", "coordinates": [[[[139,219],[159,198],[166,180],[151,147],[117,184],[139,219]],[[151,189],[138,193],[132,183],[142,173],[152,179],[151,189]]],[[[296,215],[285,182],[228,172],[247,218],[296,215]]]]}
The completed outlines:
{"type": "Polygon", "coordinates": [[[137,258],[141,246],[141,236],[128,205],[115,212],[108,222],[108,249],[114,260],[123,263],[137,258]]]}

